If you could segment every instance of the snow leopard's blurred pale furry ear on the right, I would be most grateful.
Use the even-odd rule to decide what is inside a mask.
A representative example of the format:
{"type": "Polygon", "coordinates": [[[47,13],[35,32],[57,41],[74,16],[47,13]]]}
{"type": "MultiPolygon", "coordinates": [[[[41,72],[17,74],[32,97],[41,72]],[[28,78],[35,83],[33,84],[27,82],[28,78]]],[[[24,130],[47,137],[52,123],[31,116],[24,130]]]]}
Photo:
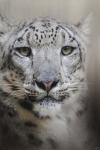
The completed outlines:
{"type": "Polygon", "coordinates": [[[78,23],[76,26],[78,27],[78,30],[80,33],[83,35],[88,36],[90,34],[90,29],[91,29],[91,21],[92,21],[92,13],[87,16],[84,20],[81,20],[80,23],[78,23]]]}

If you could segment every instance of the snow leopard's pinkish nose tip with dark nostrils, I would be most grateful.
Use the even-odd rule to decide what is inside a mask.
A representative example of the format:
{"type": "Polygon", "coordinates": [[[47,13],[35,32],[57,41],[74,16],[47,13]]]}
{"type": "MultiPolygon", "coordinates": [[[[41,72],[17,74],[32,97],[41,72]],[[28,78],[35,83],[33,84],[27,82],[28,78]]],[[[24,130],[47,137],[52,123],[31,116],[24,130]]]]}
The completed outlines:
{"type": "Polygon", "coordinates": [[[49,92],[52,88],[54,88],[59,80],[56,80],[56,81],[35,81],[37,86],[47,92],[49,92]]]}

